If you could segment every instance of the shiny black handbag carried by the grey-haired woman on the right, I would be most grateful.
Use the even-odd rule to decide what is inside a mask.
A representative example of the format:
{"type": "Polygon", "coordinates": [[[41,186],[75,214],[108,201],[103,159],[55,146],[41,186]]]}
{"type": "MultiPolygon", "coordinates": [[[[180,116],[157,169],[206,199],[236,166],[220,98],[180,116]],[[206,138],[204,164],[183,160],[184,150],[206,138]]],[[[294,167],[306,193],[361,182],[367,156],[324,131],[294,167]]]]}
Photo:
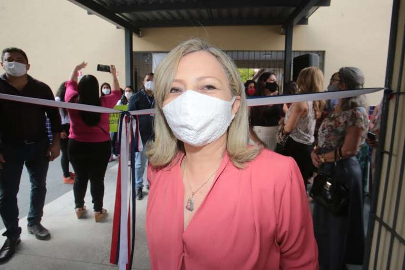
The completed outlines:
{"type": "Polygon", "coordinates": [[[337,151],[335,149],[335,162],[332,168],[314,178],[309,196],[334,215],[346,215],[349,210],[350,187],[344,180],[350,179],[350,176],[343,163],[342,149],[339,148],[339,161],[337,151]]]}

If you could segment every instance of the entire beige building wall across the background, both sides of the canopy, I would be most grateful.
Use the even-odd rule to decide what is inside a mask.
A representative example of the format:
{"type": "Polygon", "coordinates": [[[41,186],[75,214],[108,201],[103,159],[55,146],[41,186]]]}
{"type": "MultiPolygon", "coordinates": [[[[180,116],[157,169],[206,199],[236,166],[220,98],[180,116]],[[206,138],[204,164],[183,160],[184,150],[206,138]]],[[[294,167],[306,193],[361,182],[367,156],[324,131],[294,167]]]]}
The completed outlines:
{"type": "MultiPolygon", "coordinates": [[[[366,87],[384,85],[391,0],[333,0],[319,8],[308,25],[294,29],[293,50],[326,51],[325,76],[340,66],[357,66],[366,74],[366,87]]],[[[71,4],[67,0],[3,0],[0,48],[24,49],[30,74],[56,90],[77,62],[85,60],[85,73],[110,82],[96,65],[114,63],[121,86],[125,82],[124,30],[71,4]],[[6,26],[6,27],[5,27],[6,26]]],[[[134,51],[169,51],[191,37],[203,37],[225,50],[284,50],[280,27],[146,28],[134,37],[134,51]]],[[[381,93],[369,97],[379,101],[381,93]]]]}

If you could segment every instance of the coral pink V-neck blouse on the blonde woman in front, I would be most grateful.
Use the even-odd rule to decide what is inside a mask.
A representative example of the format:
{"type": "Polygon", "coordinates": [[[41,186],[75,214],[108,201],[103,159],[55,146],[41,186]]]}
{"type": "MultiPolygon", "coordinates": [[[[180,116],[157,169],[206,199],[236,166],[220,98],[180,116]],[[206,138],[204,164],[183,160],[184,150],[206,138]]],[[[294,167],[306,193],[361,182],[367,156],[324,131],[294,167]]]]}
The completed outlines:
{"type": "Polygon", "coordinates": [[[318,268],[307,196],[292,158],[263,150],[240,170],[225,154],[184,230],[183,157],[164,169],[148,167],[152,269],[318,268]]]}

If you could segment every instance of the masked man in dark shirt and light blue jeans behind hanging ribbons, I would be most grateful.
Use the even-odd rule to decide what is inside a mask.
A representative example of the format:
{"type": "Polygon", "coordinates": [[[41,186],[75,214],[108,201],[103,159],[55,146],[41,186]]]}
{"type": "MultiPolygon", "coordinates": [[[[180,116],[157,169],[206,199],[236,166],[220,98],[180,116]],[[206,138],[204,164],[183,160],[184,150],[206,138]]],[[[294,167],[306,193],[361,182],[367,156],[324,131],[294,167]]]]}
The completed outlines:
{"type": "MultiPolygon", "coordinates": [[[[143,110],[151,109],[154,107],[153,99],[153,73],[146,73],[143,80],[143,88],[132,95],[128,103],[128,110],[143,110]]],[[[146,142],[153,136],[153,116],[152,115],[139,115],[139,133],[141,134],[142,144],[146,145],[146,142]]],[[[143,199],[143,173],[145,171],[147,157],[145,155],[145,149],[141,152],[135,153],[135,185],[136,185],[136,199],[143,199]]],[[[134,160],[133,160],[134,162],[134,160]]],[[[146,188],[149,189],[147,186],[146,188]]]]}

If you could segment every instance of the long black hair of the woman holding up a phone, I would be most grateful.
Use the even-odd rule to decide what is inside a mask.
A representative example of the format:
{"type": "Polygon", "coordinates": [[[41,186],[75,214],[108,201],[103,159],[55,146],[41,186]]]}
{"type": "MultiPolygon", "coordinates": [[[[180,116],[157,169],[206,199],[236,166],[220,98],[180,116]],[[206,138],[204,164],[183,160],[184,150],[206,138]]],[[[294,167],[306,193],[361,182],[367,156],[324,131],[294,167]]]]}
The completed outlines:
{"type": "MultiPolygon", "coordinates": [[[[98,95],[98,81],[93,75],[84,75],[78,84],[77,91],[79,99],[77,103],[100,106],[100,97],[98,95]]],[[[100,123],[100,113],[90,111],[79,111],[80,118],[90,127],[97,126],[100,123]]]]}

